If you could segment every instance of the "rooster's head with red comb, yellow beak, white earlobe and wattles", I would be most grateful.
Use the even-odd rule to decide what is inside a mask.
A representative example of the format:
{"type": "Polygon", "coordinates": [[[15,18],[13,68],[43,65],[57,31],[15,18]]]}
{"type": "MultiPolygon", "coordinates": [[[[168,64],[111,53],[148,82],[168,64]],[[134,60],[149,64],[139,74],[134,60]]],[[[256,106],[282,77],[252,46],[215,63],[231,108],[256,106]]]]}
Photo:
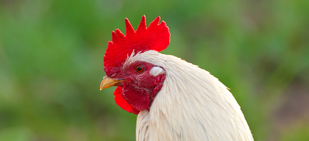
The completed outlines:
{"type": "Polygon", "coordinates": [[[148,50],[162,51],[170,44],[170,32],[166,23],[157,17],[146,27],[142,16],[137,30],[125,19],[126,35],[116,29],[104,55],[106,76],[100,89],[117,86],[115,101],[122,109],[138,114],[150,108],[151,102],[161,90],[166,74],[164,69],[143,61],[130,59],[148,50]]]}

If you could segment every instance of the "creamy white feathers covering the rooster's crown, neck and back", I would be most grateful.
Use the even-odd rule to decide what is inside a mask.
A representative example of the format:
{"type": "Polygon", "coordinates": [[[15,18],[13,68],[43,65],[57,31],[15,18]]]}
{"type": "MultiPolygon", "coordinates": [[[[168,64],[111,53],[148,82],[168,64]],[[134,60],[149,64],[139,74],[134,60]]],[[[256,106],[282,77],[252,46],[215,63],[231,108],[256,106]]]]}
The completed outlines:
{"type": "Polygon", "coordinates": [[[253,140],[235,98],[208,71],[152,50],[132,53],[123,67],[135,61],[166,73],[149,112],[137,116],[136,140],[253,140]]]}

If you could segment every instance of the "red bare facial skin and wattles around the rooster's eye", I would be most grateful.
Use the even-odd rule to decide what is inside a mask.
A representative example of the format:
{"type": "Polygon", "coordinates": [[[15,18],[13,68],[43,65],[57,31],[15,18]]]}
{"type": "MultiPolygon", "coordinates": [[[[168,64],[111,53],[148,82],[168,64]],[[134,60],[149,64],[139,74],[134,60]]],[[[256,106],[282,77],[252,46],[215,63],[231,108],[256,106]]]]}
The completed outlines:
{"type": "Polygon", "coordinates": [[[120,87],[117,87],[114,92],[115,101],[121,108],[135,114],[143,109],[150,109],[151,103],[161,90],[166,76],[164,73],[158,76],[150,75],[149,72],[152,67],[155,67],[155,65],[146,62],[134,62],[125,70],[119,69],[116,75],[112,75],[113,78],[125,78],[126,80],[119,84],[120,87]],[[136,71],[138,65],[144,66],[143,72],[136,71]],[[120,92],[124,100],[119,97],[120,92]]]}

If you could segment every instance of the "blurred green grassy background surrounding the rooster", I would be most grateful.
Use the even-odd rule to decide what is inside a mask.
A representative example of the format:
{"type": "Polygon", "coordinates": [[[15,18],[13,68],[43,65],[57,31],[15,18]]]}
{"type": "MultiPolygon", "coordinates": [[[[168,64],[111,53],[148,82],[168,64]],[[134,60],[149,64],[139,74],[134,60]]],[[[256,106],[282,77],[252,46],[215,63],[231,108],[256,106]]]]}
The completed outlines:
{"type": "Polygon", "coordinates": [[[167,22],[171,54],[229,87],[255,140],[309,138],[309,1],[0,0],[0,140],[135,140],[99,90],[111,31],[167,22]]]}

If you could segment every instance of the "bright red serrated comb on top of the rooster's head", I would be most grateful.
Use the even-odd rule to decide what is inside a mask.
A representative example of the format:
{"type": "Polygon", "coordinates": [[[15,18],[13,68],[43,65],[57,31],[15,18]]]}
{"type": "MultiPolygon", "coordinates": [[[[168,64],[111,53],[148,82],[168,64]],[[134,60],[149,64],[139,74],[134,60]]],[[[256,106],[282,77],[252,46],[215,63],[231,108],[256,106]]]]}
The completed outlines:
{"type": "Polygon", "coordinates": [[[127,55],[145,52],[148,50],[156,50],[158,52],[166,49],[170,44],[170,32],[166,23],[160,17],[153,20],[149,27],[146,27],[146,17],[142,16],[141,21],[134,31],[129,20],[125,18],[125,32],[116,29],[112,32],[112,41],[108,42],[108,46],[104,55],[104,71],[106,75],[111,75],[122,66],[127,55]]]}

